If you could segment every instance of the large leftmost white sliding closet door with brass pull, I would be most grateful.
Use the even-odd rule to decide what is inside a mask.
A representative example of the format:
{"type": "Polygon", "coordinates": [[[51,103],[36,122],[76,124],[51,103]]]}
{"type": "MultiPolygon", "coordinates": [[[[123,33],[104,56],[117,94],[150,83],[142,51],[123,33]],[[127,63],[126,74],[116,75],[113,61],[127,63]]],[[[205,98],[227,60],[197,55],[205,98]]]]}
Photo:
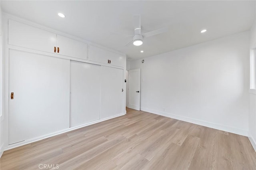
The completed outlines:
{"type": "Polygon", "coordinates": [[[68,128],[70,60],[10,49],[9,61],[9,144],[68,128]]]}

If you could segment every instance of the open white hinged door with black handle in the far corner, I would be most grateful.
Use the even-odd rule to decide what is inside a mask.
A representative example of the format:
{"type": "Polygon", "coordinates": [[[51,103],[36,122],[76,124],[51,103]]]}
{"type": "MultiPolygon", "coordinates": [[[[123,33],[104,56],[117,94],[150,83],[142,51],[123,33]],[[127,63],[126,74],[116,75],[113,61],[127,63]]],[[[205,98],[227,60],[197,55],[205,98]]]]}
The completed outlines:
{"type": "Polygon", "coordinates": [[[128,107],[140,110],[140,69],[129,70],[129,102],[128,107]]]}

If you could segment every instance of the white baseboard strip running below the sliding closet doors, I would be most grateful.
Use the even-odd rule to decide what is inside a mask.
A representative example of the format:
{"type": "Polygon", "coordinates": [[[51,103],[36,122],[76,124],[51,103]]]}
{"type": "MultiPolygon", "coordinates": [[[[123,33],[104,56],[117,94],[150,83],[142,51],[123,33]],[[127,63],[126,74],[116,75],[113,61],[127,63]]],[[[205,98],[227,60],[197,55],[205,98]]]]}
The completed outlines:
{"type": "Polygon", "coordinates": [[[76,130],[78,128],[82,128],[82,127],[86,127],[86,126],[89,126],[89,125],[92,125],[92,124],[95,124],[95,123],[99,123],[99,122],[102,122],[102,121],[106,121],[108,119],[113,119],[115,117],[120,117],[120,116],[123,116],[125,114],[121,114],[121,115],[115,115],[113,117],[107,117],[105,119],[99,119],[99,120],[96,120],[96,121],[92,121],[92,122],[89,122],[89,123],[85,123],[85,124],[82,124],[82,125],[77,125],[75,127],[70,127],[70,128],[66,128],[66,129],[63,129],[63,130],[60,130],[60,131],[57,131],[57,132],[53,132],[53,133],[49,133],[49,134],[45,134],[45,135],[42,135],[42,136],[38,136],[36,138],[32,138],[32,139],[28,139],[28,140],[24,140],[22,142],[18,142],[18,143],[15,143],[15,144],[10,144],[8,145],[6,148],[3,149],[3,151],[5,150],[10,150],[12,148],[17,148],[19,146],[23,146],[25,144],[30,144],[32,142],[36,142],[38,140],[42,140],[42,139],[45,139],[45,138],[49,138],[49,137],[52,137],[52,136],[56,136],[58,134],[62,134],[62,133],[65,133],[65,132],[69,132],[69,131],[72,131],[72,130],[76,130]]]}

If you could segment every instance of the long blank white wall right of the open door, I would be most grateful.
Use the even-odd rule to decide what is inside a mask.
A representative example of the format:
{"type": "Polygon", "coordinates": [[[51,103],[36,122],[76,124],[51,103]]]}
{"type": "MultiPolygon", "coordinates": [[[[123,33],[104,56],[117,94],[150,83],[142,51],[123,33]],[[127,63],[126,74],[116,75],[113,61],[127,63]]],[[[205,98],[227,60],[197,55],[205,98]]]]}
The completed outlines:
{"type": "Polygon", "coordinates": [[[249,32],[131,62],[141,110],[247,135],[249,32]]]}

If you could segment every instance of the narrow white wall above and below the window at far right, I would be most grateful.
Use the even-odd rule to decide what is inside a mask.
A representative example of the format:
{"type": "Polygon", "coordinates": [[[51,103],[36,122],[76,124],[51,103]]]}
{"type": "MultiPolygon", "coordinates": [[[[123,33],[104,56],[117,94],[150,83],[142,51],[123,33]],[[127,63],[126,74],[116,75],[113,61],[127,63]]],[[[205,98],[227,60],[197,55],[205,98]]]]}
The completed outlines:
{"type": "MultiPolygon", "coordinates": [[[[250,49],[256,48],[256,20],[250,30],[250,49]]],[[[256,150],[256,90],[250,90],[249,139],[256,150]]]]}

